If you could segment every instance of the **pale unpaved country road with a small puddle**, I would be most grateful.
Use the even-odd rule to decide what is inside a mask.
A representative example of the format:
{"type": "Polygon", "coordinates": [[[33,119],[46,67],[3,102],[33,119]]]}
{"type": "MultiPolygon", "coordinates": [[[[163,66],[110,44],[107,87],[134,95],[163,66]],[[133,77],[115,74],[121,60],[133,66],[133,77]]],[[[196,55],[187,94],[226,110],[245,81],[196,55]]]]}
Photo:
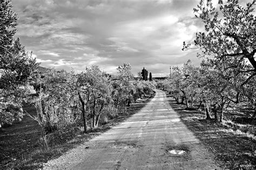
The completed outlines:
{"type": "Polygon", "coordinates": [[[211,155],[187,130],[165,92],[138,113],[62,157],[45,169],[215,169],[211,155]]]}

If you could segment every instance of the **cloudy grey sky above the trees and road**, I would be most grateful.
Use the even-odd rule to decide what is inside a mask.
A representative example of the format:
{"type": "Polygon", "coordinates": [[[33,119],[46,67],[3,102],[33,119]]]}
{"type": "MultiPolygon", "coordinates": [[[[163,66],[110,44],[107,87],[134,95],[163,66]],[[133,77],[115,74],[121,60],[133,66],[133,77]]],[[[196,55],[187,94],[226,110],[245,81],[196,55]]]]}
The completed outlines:
{"type": "Polygon", "coordinates": [[[42,66],[83,71],[99,65],[115,73],[124,62],[137,75],[143,67],[153,77],[173,65],[200,60],[197,51],[181,51],[203,24],[194,17],[199,0],[84,1],[12,0],[16,37],[42,66]]]}

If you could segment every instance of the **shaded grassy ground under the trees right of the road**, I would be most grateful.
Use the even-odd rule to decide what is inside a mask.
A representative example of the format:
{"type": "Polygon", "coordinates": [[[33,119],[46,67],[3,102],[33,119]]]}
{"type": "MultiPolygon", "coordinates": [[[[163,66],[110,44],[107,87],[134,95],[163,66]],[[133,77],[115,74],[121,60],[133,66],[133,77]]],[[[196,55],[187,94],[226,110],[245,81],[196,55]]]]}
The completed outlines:
{"type": "MultiPolygon", "coordinates": [[[[255,169],[255,121],[249,124],[235,123],[234,111],[224,113],[223,123],[205,120],[201,111],[187,111],[169,96],[169,103],[187,128],[203,142],[220,168],[255,169]]],[[[237,117],[245,117],[245,112],[235,112],[237,117]]],[[[248,113],[249,114],[249,113],[248,113]]],[[[212,115],[213,117],[213,115],[212,115]]]]}

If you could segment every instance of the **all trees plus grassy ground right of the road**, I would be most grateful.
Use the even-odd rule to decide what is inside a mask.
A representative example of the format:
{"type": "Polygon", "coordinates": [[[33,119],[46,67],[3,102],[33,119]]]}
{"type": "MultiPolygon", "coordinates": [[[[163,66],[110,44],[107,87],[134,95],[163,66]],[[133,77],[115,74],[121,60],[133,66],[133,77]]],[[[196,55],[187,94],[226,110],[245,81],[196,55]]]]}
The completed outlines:
{"type": "Polygon", "coordinates": [[[200,66],[188,60],[157,84],[221,168],[255,168],[254,5],[219,1],[217,9],[200,1],[194,12],[205,31],[183,44],[184,51],[199,50],[200,66]]]}

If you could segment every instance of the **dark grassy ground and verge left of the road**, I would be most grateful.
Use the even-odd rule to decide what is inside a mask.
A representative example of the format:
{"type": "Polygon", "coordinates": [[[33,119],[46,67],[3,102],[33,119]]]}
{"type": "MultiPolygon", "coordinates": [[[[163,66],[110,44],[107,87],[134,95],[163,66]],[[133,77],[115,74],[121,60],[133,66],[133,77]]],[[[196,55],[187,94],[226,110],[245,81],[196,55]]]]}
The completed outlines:
{"type": "MultiPolygon", "coordinates": [[[[152,95],[132,104],[126,113],[116,117],[103,118],[103,125],[83,133],[83,127],[66,127],[62,130],[43,135],[36,121],[25,116],[23,120],[0,132],[0,169],[38,169],[48,160],[60,157],[71,148],[104,133],[111,127],[131,117],[143,108],[152,95]]],[[[26,107],[28,113],[35,113],[35,108],[26,107]]]]}

